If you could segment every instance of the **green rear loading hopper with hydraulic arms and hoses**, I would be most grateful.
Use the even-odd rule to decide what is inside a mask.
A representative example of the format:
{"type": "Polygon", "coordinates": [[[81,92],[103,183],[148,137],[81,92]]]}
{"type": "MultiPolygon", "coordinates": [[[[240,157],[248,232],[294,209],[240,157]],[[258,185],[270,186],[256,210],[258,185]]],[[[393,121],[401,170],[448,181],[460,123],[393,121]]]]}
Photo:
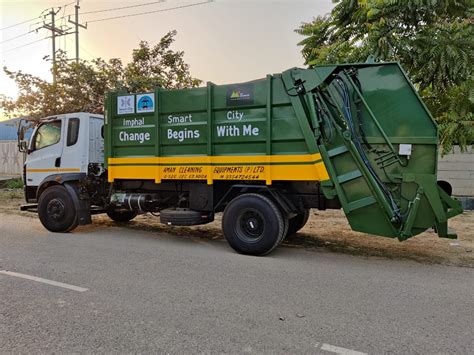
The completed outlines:
{"type": "Polygon", "coordinates": [[[438,129],[398,63],[293,69],[283,81],[309,120],[352,229],[405,240],[433,227],[440,237],[462,208],[437,181],[438,129]]]}

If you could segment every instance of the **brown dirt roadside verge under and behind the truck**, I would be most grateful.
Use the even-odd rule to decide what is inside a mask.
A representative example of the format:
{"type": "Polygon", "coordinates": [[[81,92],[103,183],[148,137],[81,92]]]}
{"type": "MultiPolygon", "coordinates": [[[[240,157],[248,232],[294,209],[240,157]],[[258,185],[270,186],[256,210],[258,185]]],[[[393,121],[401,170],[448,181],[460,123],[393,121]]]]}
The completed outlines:
{"type": "MultiPolygon", "coordinates": [[[[0,189],[0,214],[15,213],[37,218],[35,213],[19,211],[22,203],[24,202],[21,190],[0,189]]],[[[94,216],[94,223],[103,226],[115,224],[105,215],[94,216]]],[[[166,232],[186,238],[223,238],[220,214],[216,216],[214,222],[195,227],[164,226],[159,223],[158,217],[151,214],[138,216],[124,226],[166,232]]],[[[435,232],[429,230],[404,242],[399,242],[396,239],[352,231],[341,210],[311,210],[306,226],[296,235],[288,237],[283,242],[283,246],[314,251],[326,250],[363,257],[410,259],[423,263],[474,267],[474,211],[464,212],[451,219],[449,226],[458,233],[457,240],[439,238],[435,232]]]]}

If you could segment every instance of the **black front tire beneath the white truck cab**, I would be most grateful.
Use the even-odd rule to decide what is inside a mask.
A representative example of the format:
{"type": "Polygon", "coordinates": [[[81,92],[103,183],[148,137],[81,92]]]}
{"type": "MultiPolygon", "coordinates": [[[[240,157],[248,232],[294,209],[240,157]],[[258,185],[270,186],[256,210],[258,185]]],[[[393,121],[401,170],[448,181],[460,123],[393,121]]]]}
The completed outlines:
{"type": "Polygon", "coordinates": [[[74,201],[60,185],[48,187],[39,197],[38,216],[43,226],[51,232],[69,232],[77,227],[74,201]]]}

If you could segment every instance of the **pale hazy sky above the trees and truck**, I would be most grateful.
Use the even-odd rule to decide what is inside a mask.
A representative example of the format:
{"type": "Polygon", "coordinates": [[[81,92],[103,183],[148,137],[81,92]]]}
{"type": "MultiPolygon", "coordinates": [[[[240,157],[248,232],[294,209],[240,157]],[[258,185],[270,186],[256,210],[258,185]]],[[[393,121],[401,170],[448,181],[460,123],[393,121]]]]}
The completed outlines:
{"type": "MultiPolygon", "coordinates": [[[[331,0],[214,0],[148,14],[203,2],[206,0],[81,0],[79,20],[91,22],[86,30],[80,30],[80,57],[121,58],[127,63],[140,41],[154,44],[174,29],[178,35],[173,49],[185,52],[185,62],[190,64],[194,77],[216,84],[243,82],[303,66],[301,48],[297,46],[302,37],[294,29],[315,16],[329,13],[333,7],[331,0]],[[153,4],[138,6],[147,3],[153,4]],[[128,6],[135,7],[112,10],[128,6]],[[81,15],[99,10],[107,11],[81,15]],[[92,22],[143,12],[147,14],[92,22]]],[[[74,0],[0,0],[1,66],[51,80],[51,63],[43,60],[52,51],[52,40],[44,39],[50,36],[50,31],[35,29],[43,25],[41,14],[52,7],[61,7],[56,16],[61,18],[74,13],[74,3],[74,0]],[[32,21],[5,29],[28,20],[32,21]],[[35,41],[38,42],[30,44],[35,41]]],[[[67,16],[59,24],[66,25],[67,16]]],[[[58,38],[56,48],[66,50],[74,58],[74,34],[58,38]]],[[[0,94],[10,97],[18,94],[15,83],[3,70],[0,94]]]]}

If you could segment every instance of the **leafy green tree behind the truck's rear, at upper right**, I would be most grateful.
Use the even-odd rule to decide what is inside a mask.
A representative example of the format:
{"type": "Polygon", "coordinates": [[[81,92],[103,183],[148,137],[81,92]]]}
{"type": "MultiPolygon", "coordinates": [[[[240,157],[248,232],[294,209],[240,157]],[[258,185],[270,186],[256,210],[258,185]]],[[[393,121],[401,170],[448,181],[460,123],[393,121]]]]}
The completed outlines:
{"type": "Polygon", "coordinates": [[[444,152],[474,143],[472,0],[334,0],[295,31],[306,64],[399,61],[440,125],[444,152]]]}

